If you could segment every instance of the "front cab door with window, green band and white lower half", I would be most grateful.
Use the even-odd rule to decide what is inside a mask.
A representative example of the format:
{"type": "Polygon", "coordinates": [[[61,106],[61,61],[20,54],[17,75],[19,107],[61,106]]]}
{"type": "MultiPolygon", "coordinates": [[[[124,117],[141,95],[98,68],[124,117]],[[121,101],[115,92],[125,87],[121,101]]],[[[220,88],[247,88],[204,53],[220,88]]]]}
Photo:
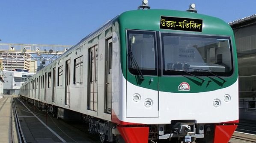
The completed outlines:
{"type": "Polygon", "coordinates": [[[155,31],[127,31],[126,117],[158,117],[158,47],[155,31]]]}

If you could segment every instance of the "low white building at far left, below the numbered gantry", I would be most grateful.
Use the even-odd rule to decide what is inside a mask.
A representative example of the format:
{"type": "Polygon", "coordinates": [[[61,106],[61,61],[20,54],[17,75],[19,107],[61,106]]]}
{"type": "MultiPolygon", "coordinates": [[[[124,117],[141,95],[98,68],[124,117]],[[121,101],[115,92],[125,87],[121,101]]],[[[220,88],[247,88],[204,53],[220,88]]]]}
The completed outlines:
{"type": "Polygon", "coordinates": [[[7,95],[17,95],[20,87],[25,81],[33,76],[34,73],[30,72],[16,72],[16,71],[3,71],[3,93],[7,95]]]}

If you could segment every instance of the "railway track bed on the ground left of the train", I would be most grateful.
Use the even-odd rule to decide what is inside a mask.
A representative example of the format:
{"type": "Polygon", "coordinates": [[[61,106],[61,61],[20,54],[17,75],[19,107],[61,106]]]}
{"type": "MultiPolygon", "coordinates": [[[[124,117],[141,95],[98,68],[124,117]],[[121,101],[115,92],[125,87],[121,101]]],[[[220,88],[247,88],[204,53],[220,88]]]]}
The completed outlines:
{"type": "MultiPolygon", "coordinates": [[[[70,124],[63,120],[58,120],[47,112],[37,109],[36,106],[27,104],[27,106],[18,98],[14,98],[17,123],[16,126],[20,126],[21,130],[18,130],[22,138],[22,130],[25,141],[19,141],[20,143],[27,142],[63,142],[63,143],[99,143],[98,136],[95,137],[86,129],[82,129],[79,124],[70,124]],[[19,118],[20,117],[20,118],[19,118]],[[35,127],[37,126],[37,127],[35,127]],[[24,131],[25,130],[25,131],[24,131]],[[40,130],[43,130],[42,132],[40,130]],[[52,130],[52,131],[51,131],[52,130]],[[51,132],[49,132],[51,131],[51,132]],[[57,136],[57,137],[56,137],[57,136]],[[59,136],[59,137],[58,137],[59,136]],[[28,139],[27,139],[28,138],[28,139]]],[[[84,125],[83,125],[84,126],[84,125]]],[[[22,140],[22,139],[20,139],[22,140]]]]}

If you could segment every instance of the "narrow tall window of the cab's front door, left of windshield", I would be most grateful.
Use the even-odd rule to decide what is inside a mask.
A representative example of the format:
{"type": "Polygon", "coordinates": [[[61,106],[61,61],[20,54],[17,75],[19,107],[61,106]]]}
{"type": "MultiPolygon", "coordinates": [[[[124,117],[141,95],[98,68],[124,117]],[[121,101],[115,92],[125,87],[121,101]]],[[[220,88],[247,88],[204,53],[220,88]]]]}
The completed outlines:
{"type": "Polygon", "coordinates": [[[127,31],[128,68],[131,74],[157,75],[155,31],[127,31]]]}

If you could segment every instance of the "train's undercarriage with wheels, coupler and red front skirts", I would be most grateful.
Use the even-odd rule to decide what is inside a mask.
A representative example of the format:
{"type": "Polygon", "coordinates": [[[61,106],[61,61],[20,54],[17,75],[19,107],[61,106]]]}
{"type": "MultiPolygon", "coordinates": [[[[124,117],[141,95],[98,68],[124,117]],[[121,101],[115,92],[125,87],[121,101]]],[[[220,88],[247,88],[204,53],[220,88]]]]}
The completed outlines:
{"type": "Polygon", "coordinates": [[[132,143],[138,140],[139,143],[219,143],[215,139],[216,136],[226,133],[224,135],[226,138],[222,137],[221,140],[228,141],[237,127],[234,123],[197,124],[196,120],[173,120],[170,124],[159,125],[123,126],[27,97],[21,96],[21,99],[24,103],[47,111],[53,117],[63,120],[83,120],[89,125],[89,133],[98,134],[101,143],[132,143]]]}

